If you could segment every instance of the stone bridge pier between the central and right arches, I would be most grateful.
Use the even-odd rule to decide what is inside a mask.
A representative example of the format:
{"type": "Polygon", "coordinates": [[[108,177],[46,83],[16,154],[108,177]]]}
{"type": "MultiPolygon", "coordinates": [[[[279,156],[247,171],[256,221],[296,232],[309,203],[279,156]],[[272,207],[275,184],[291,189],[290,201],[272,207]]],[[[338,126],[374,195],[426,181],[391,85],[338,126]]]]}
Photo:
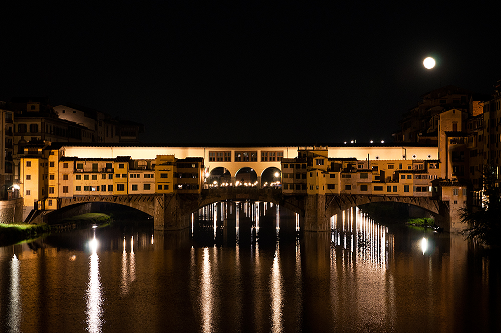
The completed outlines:
{"type": "Polygon", "coordinates": [[[325,209],[325,195],[307,195],[305,199],[305,231],[330,231],[330,216],[325,209]]]}

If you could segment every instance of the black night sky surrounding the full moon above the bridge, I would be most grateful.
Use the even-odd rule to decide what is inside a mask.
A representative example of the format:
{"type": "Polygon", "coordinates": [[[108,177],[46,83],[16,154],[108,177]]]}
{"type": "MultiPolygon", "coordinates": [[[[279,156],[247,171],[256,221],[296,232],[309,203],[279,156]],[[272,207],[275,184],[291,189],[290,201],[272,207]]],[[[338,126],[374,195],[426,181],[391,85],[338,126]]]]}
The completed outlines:
{"type": "Polygon", "coordinates": [[[95,108],[144,123],[144,142],[391,140],[421,94],[501,79],[491,7],[9,3],[0,100],[95,108]]]}

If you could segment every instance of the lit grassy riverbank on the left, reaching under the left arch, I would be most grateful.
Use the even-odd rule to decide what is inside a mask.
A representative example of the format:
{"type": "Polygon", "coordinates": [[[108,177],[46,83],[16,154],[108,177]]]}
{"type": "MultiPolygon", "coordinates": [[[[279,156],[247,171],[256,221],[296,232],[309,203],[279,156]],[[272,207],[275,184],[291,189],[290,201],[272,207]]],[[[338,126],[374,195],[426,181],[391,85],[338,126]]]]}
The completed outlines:
{"type": "Polygon", "coordinates": [[[86,213],[63,219],[61,224],[0,224],[0,246],[17,244],[38,238],[51,232],[60,232],[92,225],[107,226],[113,222],[111,216],[102,213],[86,213]]]}

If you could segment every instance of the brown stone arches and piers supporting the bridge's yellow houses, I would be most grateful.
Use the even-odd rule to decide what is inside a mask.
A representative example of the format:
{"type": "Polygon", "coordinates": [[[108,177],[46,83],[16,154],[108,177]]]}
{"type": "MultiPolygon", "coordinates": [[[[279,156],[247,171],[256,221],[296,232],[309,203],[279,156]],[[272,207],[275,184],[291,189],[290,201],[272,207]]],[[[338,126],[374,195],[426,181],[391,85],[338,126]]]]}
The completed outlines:
{"type": "Polygon", "coordinates": [[[378,202],[398,202],[418,206],[438,216],[437,224],[449,230],[449,211],[442,201],[428,197],[385,195],[283,195],[280,189],[223,188],[203,190],[200,195],[143,194],[123,196],[80,196],[61,198],[60,206],[92,202],[114,203],[138,209],[153,216],[156,230],[180,230],[191,225],[191,213],[219,201],[260,201],[281,205],[300,214],[305,231],[330,230],[330,217],[348,208],[378,202]]]}

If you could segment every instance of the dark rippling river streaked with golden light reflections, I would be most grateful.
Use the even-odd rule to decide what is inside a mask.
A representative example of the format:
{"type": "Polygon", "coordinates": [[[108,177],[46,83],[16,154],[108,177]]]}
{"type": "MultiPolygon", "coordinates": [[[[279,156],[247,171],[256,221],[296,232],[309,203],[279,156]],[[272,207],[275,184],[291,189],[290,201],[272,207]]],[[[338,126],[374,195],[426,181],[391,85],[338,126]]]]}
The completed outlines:
{"type": "Polygon", "coordinates": [[[297,216],[278,211],[218,204],[183,232],[129,225],[2,247],[0,331],[501,331],[499,258],[461,235],[354,209],[331,233],[298,236],[297,216]]]}

